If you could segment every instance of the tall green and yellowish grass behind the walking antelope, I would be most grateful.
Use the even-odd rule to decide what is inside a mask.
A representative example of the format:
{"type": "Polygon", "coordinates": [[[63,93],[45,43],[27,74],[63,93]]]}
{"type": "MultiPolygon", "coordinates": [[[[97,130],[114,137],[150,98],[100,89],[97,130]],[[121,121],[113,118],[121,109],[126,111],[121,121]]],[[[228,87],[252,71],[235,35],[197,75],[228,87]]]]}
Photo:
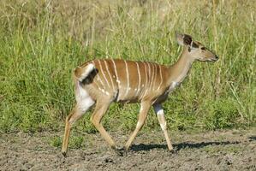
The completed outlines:
{"type": "MultiPolygon", "coordinates": [[[[255,1],[78,2],[0,2],[1,131],[61,130],[74,105],[73,68],[109,57],[176,62],[175,31],[193,35],[220,60],[193,64],[164,103],[169,127],[255,126],[255,1]]],[[[130,131],[138,111],[139,104],[113,104],[104,126],[130,131]]],[[[95,133],[89,117],[77,129],[95,133]]],[[[145,129],[156,127],[151,111],[145,129]]]]}

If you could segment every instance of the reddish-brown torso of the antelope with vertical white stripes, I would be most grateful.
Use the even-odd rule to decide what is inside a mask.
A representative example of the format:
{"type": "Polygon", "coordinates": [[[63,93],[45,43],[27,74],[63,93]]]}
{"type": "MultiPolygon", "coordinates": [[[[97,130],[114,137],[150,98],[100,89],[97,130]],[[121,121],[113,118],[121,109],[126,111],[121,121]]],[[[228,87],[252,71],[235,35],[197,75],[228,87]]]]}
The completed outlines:
{"type": "Polygon", "coordinates": [[[85,88],[96,99],[104,95],[117,102],[138,102],[157,97],[167,86],[167,68],[154,62],[104,59],[86,62],[80,68],[91,63],[96,69],[85,88]]]}

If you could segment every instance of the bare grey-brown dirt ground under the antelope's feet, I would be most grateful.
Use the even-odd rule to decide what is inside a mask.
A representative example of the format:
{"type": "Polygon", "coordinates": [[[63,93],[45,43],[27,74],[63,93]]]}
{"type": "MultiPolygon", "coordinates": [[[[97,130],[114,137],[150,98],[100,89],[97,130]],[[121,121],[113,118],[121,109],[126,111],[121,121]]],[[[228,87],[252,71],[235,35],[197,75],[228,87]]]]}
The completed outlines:
{"type": "MultiPolygon", "coordinates": [[[[127,135],[111,133],[118,144],[127,135]]],[[[0,135],[0,170],[256,170],[256,128],[205,133],[170,133],[176,153],[167,150],[162,132],[140,133],[123,156],[99,134],[85,134],[80,149],[50,145],[62,133],[0,135]]]]}

